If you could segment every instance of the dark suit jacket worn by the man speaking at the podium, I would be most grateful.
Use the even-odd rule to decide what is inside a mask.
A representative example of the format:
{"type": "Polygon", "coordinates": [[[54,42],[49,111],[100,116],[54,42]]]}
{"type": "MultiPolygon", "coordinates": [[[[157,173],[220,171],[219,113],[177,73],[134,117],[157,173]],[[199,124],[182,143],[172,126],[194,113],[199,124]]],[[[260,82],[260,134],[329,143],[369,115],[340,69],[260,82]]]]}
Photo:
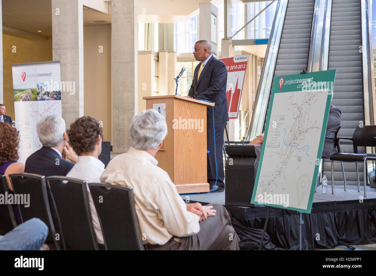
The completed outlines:
{"type": "MultiPolygon", "coordinates": [[[[208,100],[215,103],[214,106],[214,124],[222,124],[229,121],[227,113],[227,70],[226,66],[221,60],[212,56],[200,74],[200,79],[197,82],[197,75],[199,74],[201,63],[194,69],[193,82],[188,96],[194,96],[197,100],[208,100]]],[[[212,107],[207,108],[206,120],[207,124],[213,124],[212,107]]]]}

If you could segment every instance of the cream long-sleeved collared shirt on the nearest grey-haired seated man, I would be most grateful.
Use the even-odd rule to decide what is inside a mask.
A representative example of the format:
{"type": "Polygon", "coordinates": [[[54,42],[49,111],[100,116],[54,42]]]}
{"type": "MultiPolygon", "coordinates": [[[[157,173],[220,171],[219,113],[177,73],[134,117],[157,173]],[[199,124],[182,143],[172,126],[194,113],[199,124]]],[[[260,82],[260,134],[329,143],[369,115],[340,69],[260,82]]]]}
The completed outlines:
{"type": "Polygon", "coordinates": [[[200,216],[186,210],[167,172],[146,151],[129,148],[110,161],[101,182],[133,187],[136,214],[144,244],[167,243],[173,236],[187,237],[200,231],[200,216]]]}

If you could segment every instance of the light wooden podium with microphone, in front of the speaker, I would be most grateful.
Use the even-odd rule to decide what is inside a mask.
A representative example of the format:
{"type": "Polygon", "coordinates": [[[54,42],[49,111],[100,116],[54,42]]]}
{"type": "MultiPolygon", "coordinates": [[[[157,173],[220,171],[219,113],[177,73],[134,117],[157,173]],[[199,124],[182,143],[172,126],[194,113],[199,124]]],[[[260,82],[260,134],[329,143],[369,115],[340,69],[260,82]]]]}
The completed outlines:
{"type": "Polygon", "coordinates": [[[209,192],[206,107],[214,103],[177,95],[143,99],[147,109],[161,108],[166,115],[168,133],[155,156],[158,166],[168,173],[178,193],[209,192]]]}

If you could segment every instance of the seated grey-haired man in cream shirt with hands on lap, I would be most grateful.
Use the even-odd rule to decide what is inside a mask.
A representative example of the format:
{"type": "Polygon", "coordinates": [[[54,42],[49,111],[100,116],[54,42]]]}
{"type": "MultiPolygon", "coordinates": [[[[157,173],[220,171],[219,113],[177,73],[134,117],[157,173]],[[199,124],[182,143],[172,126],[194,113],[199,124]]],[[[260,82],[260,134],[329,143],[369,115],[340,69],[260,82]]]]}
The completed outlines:
{"type": "Polygon", "coordinates": [[[130,125],[132,146],[110,161],[101,182],[133,188],[147,249],[239,250],[226,209],[220,204],[185,204],[167,172],[157,166],[154,156],[166,135],[166,120],[156,110],[135,115],[130,125]]]}

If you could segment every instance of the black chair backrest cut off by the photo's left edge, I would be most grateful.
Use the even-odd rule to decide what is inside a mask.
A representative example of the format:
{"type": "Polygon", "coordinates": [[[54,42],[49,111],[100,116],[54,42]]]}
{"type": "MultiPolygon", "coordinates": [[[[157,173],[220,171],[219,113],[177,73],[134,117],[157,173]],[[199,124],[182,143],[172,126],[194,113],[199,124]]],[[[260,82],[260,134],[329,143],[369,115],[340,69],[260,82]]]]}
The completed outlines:
{"type": "Polygon", "coordinates": [[[4,202],[0,201],[0,235],[5,235],[17,226],[13,208],[8,204],[8,182],[5,175],[0,175],[0,195],[4,195],[4,202]]]}

